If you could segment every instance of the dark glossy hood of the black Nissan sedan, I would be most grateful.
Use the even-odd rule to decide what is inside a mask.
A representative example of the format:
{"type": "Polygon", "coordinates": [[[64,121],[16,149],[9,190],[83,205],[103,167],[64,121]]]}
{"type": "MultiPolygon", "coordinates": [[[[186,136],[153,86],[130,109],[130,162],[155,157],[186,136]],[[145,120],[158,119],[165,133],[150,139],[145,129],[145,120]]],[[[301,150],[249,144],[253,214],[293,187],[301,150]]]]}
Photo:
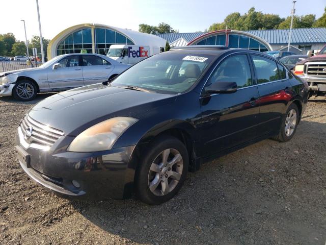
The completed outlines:
{"type": "Polygon", "coordinates": [[[115,116],[141,119],[149,110],[172,103],[175,96],[95,84],[49,96],[28,113],[42,124],[76,136],[115,116]]]}

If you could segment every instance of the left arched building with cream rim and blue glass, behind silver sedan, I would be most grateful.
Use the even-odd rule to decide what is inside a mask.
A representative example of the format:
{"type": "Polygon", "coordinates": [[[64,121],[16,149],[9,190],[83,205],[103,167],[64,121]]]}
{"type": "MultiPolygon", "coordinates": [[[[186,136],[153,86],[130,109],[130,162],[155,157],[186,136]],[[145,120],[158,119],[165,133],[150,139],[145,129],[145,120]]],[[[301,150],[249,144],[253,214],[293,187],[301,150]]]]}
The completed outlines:
{"type": "Polygon", "coordinates": [[[58,55],[97,53],[105,55],[112,44],[165,47],[166,40],[155,35],[103,24],[78,24],[55,36],[47,47],[47,59],[58,55]]]}

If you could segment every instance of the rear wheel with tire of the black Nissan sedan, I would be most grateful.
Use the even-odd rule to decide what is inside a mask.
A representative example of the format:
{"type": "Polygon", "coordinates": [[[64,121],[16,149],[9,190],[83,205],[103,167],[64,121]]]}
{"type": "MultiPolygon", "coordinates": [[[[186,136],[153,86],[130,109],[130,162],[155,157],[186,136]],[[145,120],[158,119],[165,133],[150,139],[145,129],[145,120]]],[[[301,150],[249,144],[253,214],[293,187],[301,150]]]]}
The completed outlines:
{"type": "Polygon", "coordinates": [[[299,110],[295,104],[291,104],[282,118],[280,133],[273,139],[280,142],[289,141],[295,134],[299,122],[299,110]],[[295,112],[295,115],[294,115],[295,112]],[[295,121],[294,121],[295,120],[295,121]],[[291,123],[291,125],[289,125],[291,123]],[[293,125],[294,124],[294,125],[293,125]],[[287,128],[287,130],[285,130],[287,128]]]}

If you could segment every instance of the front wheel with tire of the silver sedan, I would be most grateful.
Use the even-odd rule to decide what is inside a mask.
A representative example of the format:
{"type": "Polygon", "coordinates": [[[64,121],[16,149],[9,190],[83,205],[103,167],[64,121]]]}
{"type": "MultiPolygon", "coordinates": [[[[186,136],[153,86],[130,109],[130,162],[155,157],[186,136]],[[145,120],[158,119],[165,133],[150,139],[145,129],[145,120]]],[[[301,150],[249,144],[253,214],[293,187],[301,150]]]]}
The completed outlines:
{"type": "Polygon", "coordinates": [[[31,101],[37,94],[36,85],[30,80],[20,80],[13,88],[12,94],[19,101],[31,101]]]}

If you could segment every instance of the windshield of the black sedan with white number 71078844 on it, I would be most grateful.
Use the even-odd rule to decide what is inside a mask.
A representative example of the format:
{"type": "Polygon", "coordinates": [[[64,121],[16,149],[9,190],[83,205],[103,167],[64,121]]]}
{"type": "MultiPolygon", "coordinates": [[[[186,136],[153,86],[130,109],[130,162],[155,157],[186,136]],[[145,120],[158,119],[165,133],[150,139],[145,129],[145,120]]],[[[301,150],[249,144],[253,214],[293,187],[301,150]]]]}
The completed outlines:
{"type": "Polygon", "coordinates": [[[134,86],[158,93],[177,94],[190,88],[214,56],[166,52],[145,59],[123,72],[112,86],[134,86]]]}

